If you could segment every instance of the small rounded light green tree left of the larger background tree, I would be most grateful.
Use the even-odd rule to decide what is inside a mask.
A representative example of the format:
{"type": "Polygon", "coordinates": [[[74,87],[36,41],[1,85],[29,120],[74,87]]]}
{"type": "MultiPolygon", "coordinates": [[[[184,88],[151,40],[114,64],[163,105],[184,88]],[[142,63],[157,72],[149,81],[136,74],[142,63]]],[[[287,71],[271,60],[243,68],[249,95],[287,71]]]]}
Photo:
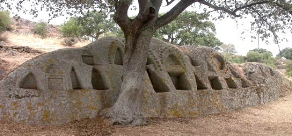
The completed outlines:
{"type": "Polygon", "coordinates": [[[64,37],[81,37],[81,27],[77,18],[70,18],[69,21],[60,26],[64,37]]]}

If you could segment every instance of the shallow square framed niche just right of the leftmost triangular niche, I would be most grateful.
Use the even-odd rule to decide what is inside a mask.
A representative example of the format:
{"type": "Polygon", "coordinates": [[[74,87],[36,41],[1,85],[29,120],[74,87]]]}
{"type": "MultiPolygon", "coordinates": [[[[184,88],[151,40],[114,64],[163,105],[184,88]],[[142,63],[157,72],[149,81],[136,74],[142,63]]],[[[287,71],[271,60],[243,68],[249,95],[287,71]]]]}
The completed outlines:
{"type": "Polygon", "coordinates": [[[65,90],[65,79],[63,76],[47,76],[49,90],[65,90]]]}

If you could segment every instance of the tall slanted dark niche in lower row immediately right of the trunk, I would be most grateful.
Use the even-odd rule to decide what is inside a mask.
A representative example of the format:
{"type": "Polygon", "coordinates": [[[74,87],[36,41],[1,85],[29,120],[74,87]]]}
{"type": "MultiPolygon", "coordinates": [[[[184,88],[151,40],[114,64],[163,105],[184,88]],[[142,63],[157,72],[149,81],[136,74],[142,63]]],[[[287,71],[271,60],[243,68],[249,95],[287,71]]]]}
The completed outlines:
{"type": "Polygon", "coordinates": [[[157,74],[150,72],[149,69],[146,69],[146,71],[156,93],[170,92],[166,83],[157,74]]]}

